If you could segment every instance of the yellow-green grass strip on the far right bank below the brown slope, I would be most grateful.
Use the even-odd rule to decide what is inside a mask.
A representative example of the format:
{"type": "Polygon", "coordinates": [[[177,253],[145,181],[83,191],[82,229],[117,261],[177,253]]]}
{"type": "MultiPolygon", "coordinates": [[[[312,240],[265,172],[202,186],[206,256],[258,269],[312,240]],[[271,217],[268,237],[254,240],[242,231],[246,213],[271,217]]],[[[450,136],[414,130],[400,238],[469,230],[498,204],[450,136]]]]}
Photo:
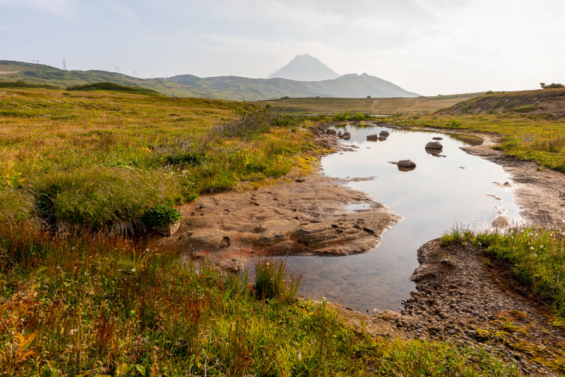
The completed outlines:
{"type": "Polygon", "coordinates": [[[504,137],[504,143],[497,148],[505,153],[565,172],[564,118],[526,114],[414,115],[390,121],[459,132],[494,132],[504,137]]]}

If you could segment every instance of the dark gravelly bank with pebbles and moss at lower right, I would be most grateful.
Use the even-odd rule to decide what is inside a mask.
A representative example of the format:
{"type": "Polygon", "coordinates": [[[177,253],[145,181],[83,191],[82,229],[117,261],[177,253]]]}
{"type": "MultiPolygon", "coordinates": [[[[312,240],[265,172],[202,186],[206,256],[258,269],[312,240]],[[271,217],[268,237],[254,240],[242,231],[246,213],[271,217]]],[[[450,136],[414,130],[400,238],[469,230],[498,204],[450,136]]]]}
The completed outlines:
{"type": "Polygon", "coordinates": [[[484,347],[531,376],[565,373],[563,327],[507,265],[472,245],[418,250],[417,291],[400,312],[362,314],[334,305],[343,319],[374,337],[438,340],[484,347]]]}

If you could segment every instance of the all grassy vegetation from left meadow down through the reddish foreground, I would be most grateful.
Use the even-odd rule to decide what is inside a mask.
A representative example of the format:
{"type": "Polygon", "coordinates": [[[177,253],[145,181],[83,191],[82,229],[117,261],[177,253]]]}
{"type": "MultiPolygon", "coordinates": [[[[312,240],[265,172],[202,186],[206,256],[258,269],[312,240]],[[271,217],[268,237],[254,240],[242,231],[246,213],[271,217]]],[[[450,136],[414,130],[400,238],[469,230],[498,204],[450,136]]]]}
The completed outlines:
{"type": "Polygon", "coordinates": [[[246,103],[0,91],[3,376],[513,376],[482,348],[373,338],[300,277],[149,250],[174,204],[287,173],[314,120],[246,103]],[[247,127],[249,126],[249,127],[247,127]]]}

